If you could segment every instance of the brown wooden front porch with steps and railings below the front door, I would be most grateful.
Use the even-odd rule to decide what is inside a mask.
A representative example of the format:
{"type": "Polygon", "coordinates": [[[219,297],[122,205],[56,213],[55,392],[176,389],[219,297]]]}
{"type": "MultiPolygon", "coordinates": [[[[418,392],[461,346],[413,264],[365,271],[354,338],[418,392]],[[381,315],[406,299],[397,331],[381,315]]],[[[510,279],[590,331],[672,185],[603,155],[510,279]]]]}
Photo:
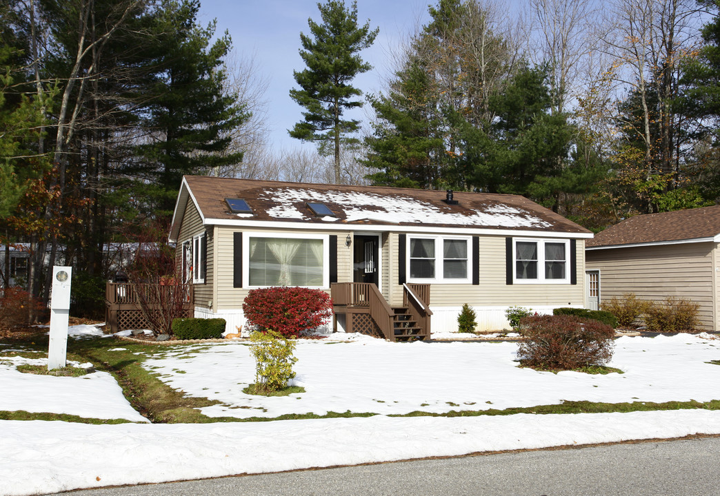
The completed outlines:
{"type": "Polygon", "coordinates": [[[391,308],[372,283],[330,285],[333,311],[345,318],[347,332],[359,332],[390,341],[430,337],[430,285],[405,284],[402,306],[391,308]]]}

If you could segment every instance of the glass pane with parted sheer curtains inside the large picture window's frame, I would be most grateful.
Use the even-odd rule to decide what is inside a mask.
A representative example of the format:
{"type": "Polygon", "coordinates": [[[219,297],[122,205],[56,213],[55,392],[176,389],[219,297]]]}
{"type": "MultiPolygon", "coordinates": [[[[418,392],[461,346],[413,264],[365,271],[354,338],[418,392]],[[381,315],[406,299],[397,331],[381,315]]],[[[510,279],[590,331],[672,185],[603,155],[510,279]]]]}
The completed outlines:
{"type": "Polygon", "coordinates": [[[248,244],[249,285],[323,287],[323,239],[251,236],[248,244]]]}

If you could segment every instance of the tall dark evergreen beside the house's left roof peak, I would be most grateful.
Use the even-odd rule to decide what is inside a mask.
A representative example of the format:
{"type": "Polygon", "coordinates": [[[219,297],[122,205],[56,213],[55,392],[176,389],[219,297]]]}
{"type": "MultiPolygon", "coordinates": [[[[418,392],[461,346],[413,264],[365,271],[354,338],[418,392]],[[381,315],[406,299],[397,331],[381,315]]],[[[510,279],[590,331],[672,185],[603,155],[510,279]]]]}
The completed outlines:
{"type": "Polygon", "coordinates": [[[153,25],[153,75],[141,121],[152,134],[136,152],[138,175],[154,198],[148,207],[161,217],[172,213],[182,175],[210,173],[243,157],[243,152],[222,153],[230,145],[225,132],[248,118],[223,86],[230,35],[211,45],[215,22],[200,26],[199,7],[198,0],[166,0],[153,25]]]}

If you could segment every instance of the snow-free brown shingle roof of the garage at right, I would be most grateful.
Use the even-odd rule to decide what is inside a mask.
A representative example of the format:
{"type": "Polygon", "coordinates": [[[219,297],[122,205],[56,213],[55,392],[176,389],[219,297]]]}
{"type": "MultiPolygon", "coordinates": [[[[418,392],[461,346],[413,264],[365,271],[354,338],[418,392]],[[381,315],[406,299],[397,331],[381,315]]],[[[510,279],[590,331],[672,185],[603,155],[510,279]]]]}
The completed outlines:
{"type": "Polygon", "coordinates": [[[719,234],[720,206],[716,205],[630,217],[595,234],[585,246],[713,241],[719,234]]]}

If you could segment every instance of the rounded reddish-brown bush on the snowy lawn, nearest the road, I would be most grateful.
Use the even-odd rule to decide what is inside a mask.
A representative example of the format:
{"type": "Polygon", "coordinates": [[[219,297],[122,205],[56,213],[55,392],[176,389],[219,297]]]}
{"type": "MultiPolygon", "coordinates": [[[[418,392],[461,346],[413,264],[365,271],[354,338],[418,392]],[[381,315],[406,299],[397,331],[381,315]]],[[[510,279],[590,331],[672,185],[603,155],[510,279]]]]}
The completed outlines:
{"type": "Polygon", "coordinates": [[[518,357],[523,365],[539,369],[572,370],[603,365],[613,357],[611,326],[570,315],[523,318],[518,357]]]}

